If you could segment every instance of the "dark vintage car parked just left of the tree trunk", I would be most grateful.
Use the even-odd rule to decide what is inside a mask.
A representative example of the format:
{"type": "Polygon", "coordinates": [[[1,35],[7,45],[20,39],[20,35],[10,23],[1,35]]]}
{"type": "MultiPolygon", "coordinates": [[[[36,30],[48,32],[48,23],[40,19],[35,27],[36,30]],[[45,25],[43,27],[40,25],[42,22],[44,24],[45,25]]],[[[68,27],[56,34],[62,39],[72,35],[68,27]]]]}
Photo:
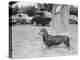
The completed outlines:
{"type": "Polygon", "coordinates": [[[38,11],[34,14],[34,17],[31,20],[31,24],[41,24],[42,26],[45,26],[46,24],[49,25],[49,22],[51,21],[51,16],[52,15],[49,12],[38,11]]]}

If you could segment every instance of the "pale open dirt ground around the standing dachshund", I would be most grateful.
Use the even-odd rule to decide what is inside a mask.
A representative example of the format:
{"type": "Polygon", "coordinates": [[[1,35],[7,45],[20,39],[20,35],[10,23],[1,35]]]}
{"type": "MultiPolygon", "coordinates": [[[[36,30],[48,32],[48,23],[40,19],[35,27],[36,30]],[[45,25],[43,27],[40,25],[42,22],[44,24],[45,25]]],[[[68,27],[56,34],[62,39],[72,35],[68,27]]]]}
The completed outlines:
{"type": "MultiPolygon", "coordinates": [[[[38,34],[43,26],[14,25],[12,26],[12,56],[13,58],[38,58],[65,55],[77,55],[78,53],[78,26],[69,26],[71,50],[64,45],[46,48],[42,37],[38,34]]],[[[45,26],[50,32],[50,27],[45,26]]],[[[55,31],[54,31],[55,32],[55,31]]]]}

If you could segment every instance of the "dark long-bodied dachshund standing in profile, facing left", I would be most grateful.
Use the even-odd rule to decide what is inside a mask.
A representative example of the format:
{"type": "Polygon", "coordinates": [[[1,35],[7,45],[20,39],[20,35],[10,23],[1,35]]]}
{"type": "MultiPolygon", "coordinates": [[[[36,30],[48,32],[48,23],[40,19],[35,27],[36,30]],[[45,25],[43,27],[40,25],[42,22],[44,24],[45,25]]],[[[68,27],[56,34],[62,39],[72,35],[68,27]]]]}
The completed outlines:
{"type": "Polygon", "coordinates": [[[45,28],[42,28],[39,32],[39,34],[42,36],[43,38],[43,43],[47,46],[47,47],[51,47],[51,46],[55,46],[55,45],[59,45],[61,43],[64,43],[66,45],[66,47],[68,49],[70,49],[70,38],[68,36],[65,35],[49,35],[48,31],[45,28]]]}

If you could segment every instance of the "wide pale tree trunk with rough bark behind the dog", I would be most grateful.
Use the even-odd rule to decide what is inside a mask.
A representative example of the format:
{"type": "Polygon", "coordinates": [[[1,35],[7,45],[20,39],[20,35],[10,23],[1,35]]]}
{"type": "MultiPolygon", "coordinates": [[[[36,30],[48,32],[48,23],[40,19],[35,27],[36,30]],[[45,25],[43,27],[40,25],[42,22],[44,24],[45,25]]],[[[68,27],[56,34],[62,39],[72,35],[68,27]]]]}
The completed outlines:
{"type": "Polygon", "coordinates": [[[69,20],[69,6],[67,5],[53,5],[52,10],[52,30],[55,30],[56,34],[66,33],[68,31],[68,20],[69,20]],[[57,7],[60,11],[57,11],[57,7]]]}

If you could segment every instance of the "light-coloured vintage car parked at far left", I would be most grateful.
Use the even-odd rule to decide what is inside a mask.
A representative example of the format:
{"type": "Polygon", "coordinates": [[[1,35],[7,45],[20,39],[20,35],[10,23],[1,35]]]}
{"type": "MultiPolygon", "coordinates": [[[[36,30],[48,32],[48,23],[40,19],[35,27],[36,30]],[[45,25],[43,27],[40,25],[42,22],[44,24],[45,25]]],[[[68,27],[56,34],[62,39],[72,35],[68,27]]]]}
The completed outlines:
{"type": "Polygon", "coordinates": [[[12,16],[12,23],[21,23],[21,24],[27,24],[31,23],[32,17],[29,17],[27,14],[16,14],[12,16]]]}

